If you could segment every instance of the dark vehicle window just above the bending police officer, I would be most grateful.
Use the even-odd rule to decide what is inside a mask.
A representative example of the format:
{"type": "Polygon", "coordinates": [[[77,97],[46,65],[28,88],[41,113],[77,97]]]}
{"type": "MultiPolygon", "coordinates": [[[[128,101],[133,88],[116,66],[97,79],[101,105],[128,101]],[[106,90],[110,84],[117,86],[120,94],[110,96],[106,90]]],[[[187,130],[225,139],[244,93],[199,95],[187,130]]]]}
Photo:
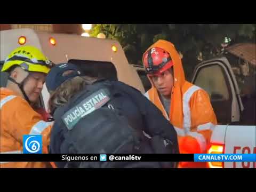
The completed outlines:
{"type": "Polygon", "coordinates": [[[107,61],[89,61],[71,59],[68,62],[77,65],[86,74],[98,78],[106,78],[110,81],[117,81],[117,71],[113,63],[107,61]]]}

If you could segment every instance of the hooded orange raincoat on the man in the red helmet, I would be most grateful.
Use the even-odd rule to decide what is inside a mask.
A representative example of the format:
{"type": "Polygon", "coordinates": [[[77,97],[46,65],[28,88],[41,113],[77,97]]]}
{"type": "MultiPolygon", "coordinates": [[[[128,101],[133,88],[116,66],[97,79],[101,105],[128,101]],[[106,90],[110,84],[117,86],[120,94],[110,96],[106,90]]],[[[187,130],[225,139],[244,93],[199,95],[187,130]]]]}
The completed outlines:
{"type": "MultiPolygon", "coordinates": [[[[217,124],[209,95],[200,87],[186,81],[179,53],[172,43],[159,40],[151,45],[149,49],[153,47],[160,47],[169,52],[174,63],[174,86],[169,116],[167,116],[154,83],[149,76],[149,81],[153,86],[145,93],[145,96],[173,124],[178,134],[180,153],[206,153],[212,130],[217,124]]],[[[179,164],[179,167],[205,166],[206,163],[181,162],[179,164]]]]}

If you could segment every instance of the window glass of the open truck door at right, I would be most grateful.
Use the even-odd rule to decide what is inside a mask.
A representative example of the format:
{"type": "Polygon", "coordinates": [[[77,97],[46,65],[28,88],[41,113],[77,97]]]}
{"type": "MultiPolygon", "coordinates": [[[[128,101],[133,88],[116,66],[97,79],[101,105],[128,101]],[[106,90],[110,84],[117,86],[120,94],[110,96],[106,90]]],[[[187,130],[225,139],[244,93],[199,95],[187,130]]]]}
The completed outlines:
{"type": "Polygon", "coordinates": [[[230,123],[232,94],[222,67],[219,65],[202,67],[198,70],[195,84],[209,94],[218,123],[230,123]]]}

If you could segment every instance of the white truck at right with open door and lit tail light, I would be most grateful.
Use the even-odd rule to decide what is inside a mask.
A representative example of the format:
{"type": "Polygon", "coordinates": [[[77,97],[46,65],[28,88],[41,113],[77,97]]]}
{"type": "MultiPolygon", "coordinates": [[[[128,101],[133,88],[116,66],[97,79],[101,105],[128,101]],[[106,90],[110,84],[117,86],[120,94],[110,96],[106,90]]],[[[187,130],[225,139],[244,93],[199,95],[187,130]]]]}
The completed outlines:
{"type": "MultiPolygon", "coordinates": [[[[254,78],[251,81],[255,81],[255,67],[253,70],[254,78]]],[[[200,63],[194,70],[192,82],[209,93],[218,119],[208,153],[256,154],[255,83],[254,89],[250,87],[251,98],[247,95],[243,98],[241,89],[245,87],[239,89],[233,69],[226,57],[200,63]]],[[[256,162],[209,162],[208,164],[209,167],[256,167],[256,162]]]]}

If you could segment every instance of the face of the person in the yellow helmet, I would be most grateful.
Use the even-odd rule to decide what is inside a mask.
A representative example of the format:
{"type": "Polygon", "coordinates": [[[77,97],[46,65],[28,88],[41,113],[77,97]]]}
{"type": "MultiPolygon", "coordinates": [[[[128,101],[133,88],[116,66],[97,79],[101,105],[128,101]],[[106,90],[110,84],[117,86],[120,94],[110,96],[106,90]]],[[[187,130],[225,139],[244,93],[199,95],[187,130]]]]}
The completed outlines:
{"type": "Polygon", "coordinates": [[[24,91],[30,102],[37,102],[39,95],[43,89],[46,75],[43,73],[30,73],[24,85],[24,91]]]}

